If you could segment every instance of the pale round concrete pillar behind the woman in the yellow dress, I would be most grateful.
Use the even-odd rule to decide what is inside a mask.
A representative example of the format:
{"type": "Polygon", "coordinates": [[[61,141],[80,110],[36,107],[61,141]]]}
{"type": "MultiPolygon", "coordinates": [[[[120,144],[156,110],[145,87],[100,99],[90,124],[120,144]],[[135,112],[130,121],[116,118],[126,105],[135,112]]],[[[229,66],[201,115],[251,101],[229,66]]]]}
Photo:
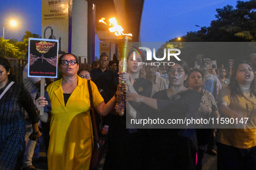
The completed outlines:
{"type": "Polygon", "coordinates": [[[86,0],[72,1],[72,44],[71,53],[87,60],[87,8],[86,0]]]}

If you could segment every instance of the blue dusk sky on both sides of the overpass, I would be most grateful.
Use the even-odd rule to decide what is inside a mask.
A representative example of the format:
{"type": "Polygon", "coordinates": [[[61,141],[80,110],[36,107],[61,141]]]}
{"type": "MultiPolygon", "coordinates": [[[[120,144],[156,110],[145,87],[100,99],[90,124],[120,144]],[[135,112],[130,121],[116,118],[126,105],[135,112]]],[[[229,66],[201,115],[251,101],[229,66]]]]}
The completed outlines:
{"type": "MultiPolygon", "coordinates": [[[[216,9],[228,4],[235,7],[236,0],[145,0],[141,41],[165,42],[188,31],[198,31],[200,28],[195,25],[210,26],[216,9]]],[[[0,25],[12,18],[19,22],[16,28],[5,27],[5,38],[20,41],[25,31],[41,35],[41,13],[41,0],[0,0],[0,25]]],[[[0,36],[3,36],[3,27],[0,36]]]]}

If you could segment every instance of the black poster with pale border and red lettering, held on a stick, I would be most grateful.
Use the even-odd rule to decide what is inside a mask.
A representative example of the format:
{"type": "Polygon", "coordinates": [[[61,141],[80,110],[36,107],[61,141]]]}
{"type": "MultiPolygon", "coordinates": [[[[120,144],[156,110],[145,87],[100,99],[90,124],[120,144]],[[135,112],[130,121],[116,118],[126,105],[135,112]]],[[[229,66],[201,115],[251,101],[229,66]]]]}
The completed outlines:
{"type": "Polygon", "coordinates": [[[29,77],[57,78],[58,40],[29,38],[29,77]]]}

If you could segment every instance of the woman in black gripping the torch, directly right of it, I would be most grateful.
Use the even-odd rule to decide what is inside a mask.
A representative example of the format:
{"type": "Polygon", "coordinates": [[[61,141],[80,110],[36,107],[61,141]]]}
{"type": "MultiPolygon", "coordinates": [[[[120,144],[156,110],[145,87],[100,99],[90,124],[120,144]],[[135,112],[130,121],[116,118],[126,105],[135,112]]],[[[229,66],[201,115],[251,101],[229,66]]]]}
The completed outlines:
{"type": "MultiPolygon", "coordinates": [[[[139,65],[139,62],[144,62],[144,57],[138,54],[135,50],[130,50],[127,57],[127,87],[129,91],[133,91],[136,94],[150,97],[152,91],[152,82],[139,77],[139,70],[143,65],[139,65]],[[135,60],[133,60],[133,52],[135,52],[135,60]],[[128,83],[129,82],[129,83],[128,83]]],[[[121,104],[122,109],[124,103],[121,104]]],[[[126,129],[127,117],[140,116],[139,112],[132,109],[132,115],[126,115],[128,113],[127,103],[126,109],[124,109],[124,116],[112,116],[111,124],[109,126],[108,133],[108,148],[104,170],[132,170],[132,169],[147,169],[149,166],[149,134],[147,129],[126,129]]]]}

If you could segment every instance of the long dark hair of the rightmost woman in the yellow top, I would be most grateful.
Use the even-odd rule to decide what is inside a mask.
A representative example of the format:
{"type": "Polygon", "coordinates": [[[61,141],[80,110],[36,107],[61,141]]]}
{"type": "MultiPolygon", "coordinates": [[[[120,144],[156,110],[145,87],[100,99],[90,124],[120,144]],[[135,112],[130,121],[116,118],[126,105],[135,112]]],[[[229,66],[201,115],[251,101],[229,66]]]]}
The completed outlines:
{"type": "MultiPolygon", "coordinates": [[[[248,64],[250,67],[252,67],[252,65],[250,63],[248,63],[247,61],[243,61],[241,62],[240,64],[248,64]]],[[[240,88],[239,88],[239,84],[237,82],[237,80],[235,79],[236,76],[237,76],[237,69],[238,69],[238,66],[240,64],[237,64],[236,66],[234,66],[234,68],[232,69],[232,74],[230,76],[230,84],[228,85],[230,87],[230,91],[231,91],[231,96],[234,95],[234,94],[237,94],[237,95],[240,95],[240,96],[243,96],[243,92],[240,91],[240,88]]],[[[253,69],[253,67],[252,67],[253,69]]],[[[254,76],[254,72],[253,72],[253,75],[254,76]]],[[[253,82],[251,82],[250,84],[250,95],[251,97],[253,95],[256,95],[256,89],[255,89],[255,80],[253,80],[253,82]]]]}

